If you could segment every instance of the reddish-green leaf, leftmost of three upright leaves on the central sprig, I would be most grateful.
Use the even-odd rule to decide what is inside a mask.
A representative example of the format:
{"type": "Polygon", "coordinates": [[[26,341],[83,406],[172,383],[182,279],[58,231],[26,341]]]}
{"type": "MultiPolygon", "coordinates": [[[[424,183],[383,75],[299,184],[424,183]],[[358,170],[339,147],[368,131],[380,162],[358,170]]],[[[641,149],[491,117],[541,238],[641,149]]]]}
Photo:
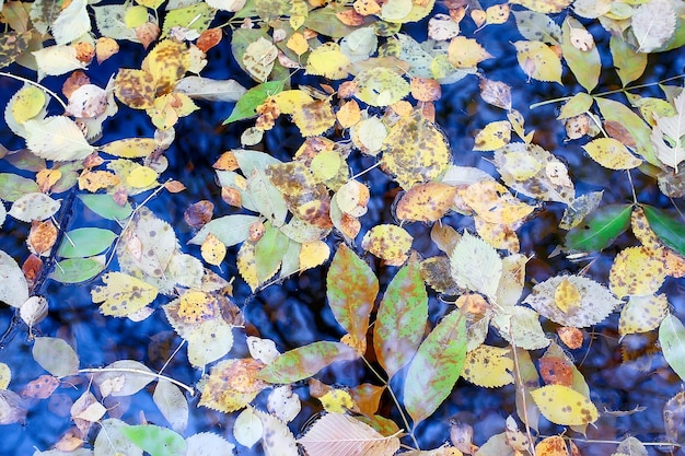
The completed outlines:
{"type": "Polygon", "coordinates": [[[326,278],[326,295],[336,320],[350,335],[351,346],[365,352],[369,315],[379,293],[373,271],[348,246],[341,244],[326,278]]]}

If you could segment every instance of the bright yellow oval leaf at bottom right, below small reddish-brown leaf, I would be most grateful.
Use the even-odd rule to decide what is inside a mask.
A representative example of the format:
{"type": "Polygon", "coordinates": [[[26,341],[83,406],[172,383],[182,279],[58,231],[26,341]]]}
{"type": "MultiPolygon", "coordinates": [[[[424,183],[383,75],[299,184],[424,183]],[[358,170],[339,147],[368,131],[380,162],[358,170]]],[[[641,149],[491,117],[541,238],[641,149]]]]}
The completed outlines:
{"type": "Polygon", "coordinates": [[[564,385],[547,385],[531,391],[543,416],[555,424],[583,425],[597,419],[597,409],[582,394],[564,385]]]}

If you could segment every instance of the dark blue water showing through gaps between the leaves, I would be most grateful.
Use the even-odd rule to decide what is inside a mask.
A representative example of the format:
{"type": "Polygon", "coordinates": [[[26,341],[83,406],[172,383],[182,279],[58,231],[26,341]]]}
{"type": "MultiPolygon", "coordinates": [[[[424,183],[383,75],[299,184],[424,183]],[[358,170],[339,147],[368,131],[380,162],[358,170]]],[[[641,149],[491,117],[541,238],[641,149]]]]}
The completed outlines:
{"type": "MultiPolygon", "coordinates": [[[[514,28],[511,27],[512,33],[514,28]]],[[[534,110],[527,108],[531,103],[565,96],[576,93],[578,87],[572,85],[526,83],[525,75],[515,61],[515,52],[510,42],[519,39],[518,36],[502,36],[501,27],[478,32],[480,43],[485,43],[490,54],[496,59],[485,61],[481,65],[483,73],[496,81],[503,81],[512,85],[514,107],[523,114],[526,120],[526,130],[535,129],[535,142],[566,160],[571,171],[571,179],[576,183],[578,194],[604,189],[604,203],[629,202],[631,189],[625,174],[604,173],[600,166],[583,166],[588,157],[582,149],[573,142],[565,143],[565,135],[559,122],[555,120],[558,105],[548,105],[534,110]]],[[[130,51],[140,55],[140,49],[124,49],[121,56],[130,58],[130,51]]],[[[229,40],[211,49],[208,60],[209,67],[204,75],[209,78],[225,79],[237,78],[246,86],[252,85],[242,71],[232,62],[229,40]]],[[[606,57],[606,56],[605,56],[606,57]]],[[[652,56],[648,74],[639,82],[652,82],[663,77],[672,75],[682,71],[685,59],[682,55],[673,52],[662,56],[652,56]]],[[[104,85],[111,72],[121,65],[135,67],[142,57],[127,62],[112,60],[107,62],[109,72],[96,83],[104,85]]],[[[101,74],[97,71],[92,73],[101,74]]],[[[606,72],[611,72],[606,70],[606,72]]],[[[28,75],[28,74],[27,74],[28,75]]],[[[28,75],[30,77],[30,75],[28,75]]],[[[49,85],[50,79],[45,82],[49,85]]],[[[570,80],[569,80],[570,83],[570,80]]],[[[486,105],[479,96],[477,80],[467,77],[453,85],[443,87],[443,98],[438,105],[437,122],[449,137],[454,151],[454,163],[465,166],[479,166],[490,174],[495,174],[494,166],[488,163],[486,154],[472,152],[473,138],[476,130],[487,122],[501,119],[501,112],[486,105]]],[[[21,84],[16,81],[0,78],[0,91],[2,94],[14,93],[21,84]]],[[[614,79],[605,80],[599,90],[616,89],[614,79]]],[[[53,87],[59,90],[59,87],[53,87]]],[[[7,95],[2,95],[3,97],[7,95]]],[[[4,101],[4,98],[2,98],[4,101]]],[[[2,104],[4,106],[4,103],[2,104]]],[[[183,182],[187,190],[177,195],[161,195],[149,202],[150,209],[162,219],[170,222],[183,246],[184,252],[198,255],[198,247],[186,245],[193,235],[189,226],[183,221],[185,208],[198,200],[207,199],[216,204],[214,217],[234,213],[220,197],[220,189],[214,183],[212,163],[224,150],[240,147],[240,135],[248,126],[248,122],[239,122],[230,127],[221,127],[221,122],[228,117],[232,105],[228,103],[199,103],[200,110],[181,120],[176,129],[176,141],[166,152],[170,161],[170,169],[165,176],[171,176],[183,182]]],[[[146,116],[135,113],[126,107],[119,107],[120,112],[114,121],[109,121],[105,137],[101,143],[127,138],[131,136],[150,137],[152,129],[146,116]]],[[[280,121],[277,128],[267,133],[264,150],[275,156],[289,160],[297,147],[300,137],[287,122],[280,121]]],[[[0,142],[8,149],[23,147],[21,142],[7,130],[2,131],[0,142]]],[[[370,157],[355,157],[350,161],[353,173],[358,173],[373,164],[370,157]]],[[[16,172],[7,168],[7,164],[0,162],[0,172],[16,172]]],[[[642,202],[663,207],[667,201],[655,189],[655,182],[639,173],[632,173],[638,198],[642,202]]],[[[369,204],[369,213],[362,222],[364,227],[383,222],[393,222],[388,210],[394,195],[390,191],[394,185],[379,169],[365,174],[362,180],[370,185],[371,195],[376,196],[369,204]]],[[[63,196],[62,196],[63,197],[63,196]]],[[[140,202],[143,197],[136,197],[140,202]]],[[[78,202],[77,202],[78,203],[78,202]]],[[[537,217],[529,221],[521,230],[521,252],[534,256],[529,264],[527,284],[529,291],[532,280],[543,281],[552,274],[560,271],[576,273],[583,265],[572,264],[562,256],[549,258],[554,248],[562,243],[562,234],[557,225],[564,208],[557,203],[544,203],[538,210],[537,217]]],[[[78,210],[77,213],[86,214],[88,211],[78,210]]],[[[76,219],[69,226],[73,229],[81,225],[92,226],[88,219],[76,219]]],[[[450,215],[444,223],[454,227],[472,227],[472,221],[461,215],[450,215]]],[[[422,224],[409,225],[408,230],[415,236],[414,247],[423,257],[437,254],[434,245],[428,236],[428,227],[422,224]]],[[[25,224],[16,223],[10,218],[5,221],[0,238],[0,247],[10,253],[21,264],[26,256],[23,239],[27,232],[25,224]]],[[[362,233],[363,234],[363,233],[362,233]]],[[[635,239],[625,235],[617,239],[616,244],[602,254],[597,254],[596,260],[589,269],[588,274],[596,280],[606,282],[612,258],[619,248],[634,245],[635,239]]],[[[230,249],[229,258],[235,258],[236,248],[230,249]]],[[[369,258],[371,261],[373,259],[369,258]]],[[[395,268],[380,267],[372,264],[375,272],[380,276],[381,290],[388,283],[396,272],[395,268]]],[[[225,261],[222,265],[224,277],[237,277],[234,261],[225,261]]],[[[326,305],[325,295],[326,268],[306,271],[298,277],[292,277],[281,283],[271,285],[257,295],[252,295],[249,289],[237,279],[234,283],[234,301],[242,307],[246,319],[246,332],[259,335],[272,339],[281,350],[316,341],[338,340],[342,336],[341,328],[335,321],[329,307],[326,305]]],[[[50,282],[46,290],[49,296],[50,312],[48,318],[34,329],[35,335],[57,336],[66,339],[77,349],[82,367],[102,366],[116,360],[138,360],[152,370],[161,369],[169,356],[181,343],[161,311],[142,323],[132,323],[127,319],[103,317],[96,306],[91,303],[89,288],[91,283],[82,285],[62,285],[50,282]]],[[[671,305],[673,312],[680,317],[685,317],[685,293],[683,282],[670,280],[665,289],[667,295],[674,296],[671,305]]],[[[436,294],[431,294],[430,321],[434,325],[439,318],[451,309],[451,305],[441,301],[436,294]]],[[[160,301],[160,303],[162,303],[160,301]]],[[[11,327],[14,318],[13,312],[3,308],[0,312],[0,330],[11,327]]],[[[630,337],[629,352],[622,353],[618,343],[617,315],[612,315],[603,324],[592,328],[592,340],[585,341],[582,349],[573,351],[572,355],[581,372],[591,385],[592,400],[600,410],[631,410],[636,406],[646,407],[639,414],[625,417],[605,416],[596,428],[588,429],[588,437],[596,440],[620,440],[627,434],[635,435],[643,441],[658,441],[662,437],[663,420],[661,407],[664,401],[677,393],[681,388],[677,378],[670,374],[663,358],[659,354],[650,354],[655,341],[650,336],[630,337]]],[[[553,326],[546,326],[546,330],[554,332],[553,326]]],[[[492,331],[491,331],[492,332],[492,331]]],[[[5,344],[0,351],[0,361],[10,366],[18,366],[13,371],[12,385],[25,385],[45,372],[33,361],[31,342],[27,339],[27,328],[23,325],[14,326],[12,332],[4,339],[5,344]]],[[[496,335],[490,334],[488,339],[494,344],[502,344],[503,341],[496,335]]],[[[236,343],[230,356],[240,358],[247,355],[244,343],[236,343]]],[[[623,346],[625,347],[625,344],[623,346]]],[[[185,383],[194,385],[201,373],[193,370],[182,349],[174,355],[164,371],[167,375],[185,383]]],[[[398,375],[402,379],[402,375],[398,375]]],[[[360,363],[335,364],[322,373],[322,379],[327,384],[357,385],[361,382],[378,384],[378,379],[370,376],[360,363]]],[[[35,400],[30,404],[28,416],[25,424],[11,424],[0,426],[0,453],[27,455],[34,448],[46,449],[70,428],[69,407],[71,400],[76,400],[86,386],[88,379],[82,377],[81,385],[62,385],[48,400],[35,400]]],[[[397,381],[393,382],[394,386],[397,381]]],[[[395,388],[396,390],[399,388],[395,388]]],[[[303,400],[303,412],[295,419],[292,429],[295,434],[302,431],[310,417],[320,411],[318,402],[309,397],[307,385],[302,382],[295,385],[295,393],[303,400]]],[[[262,394],[257,402],[263,404],[265,395],[262,394]]],[[[232,440],[231,429],[233,416],[225,416],[205,408],[195,408],[197,398],[191,398],[191,419],[186,433],[193,434],[199,431],[211,430],[222,433],[232,440]],[[224,432],[225,431],[225,432],[224,432]]],[[[119,404],[109,410],[109,416],[123,417],[127,422],[139,422],[141,411],[150,422],[165,424],[156,407],[151,400],[150,394],[139,393],[131,398],[119,398],[119,404]]],[[[105,402],[107,406],[107,402],[105,402]]],[[[388,398],[384,397],[382,410],[388,411],[391,418],[400,422],[399,417],[392,409],[388,398]]],[[[504,419],[515,413],[514,388],[508,386],[499,389],[477,388],[460,381],[445,404],[417,430],[417,436],[422,447],[432,448],[441,445],[448,437],[450,419],[457,418],[462,422],[469,423],[475,430],[475,443],[480,445],[485,440],[502,431],[504,419]]],[[[546,423],[541,431],[547,435],[558,433],[560,428],[546,423]]],[[[244,447],[241,454],[256,454],[246,452],[244,447]]],[[[589,446],[581,451],[584,456],[606,455],[613,446],[589,446]]],[[[256,447],[255,447],[256,452],[256,447]]],[[[651,453],[655,454],[653,448],[651,453]]]]}

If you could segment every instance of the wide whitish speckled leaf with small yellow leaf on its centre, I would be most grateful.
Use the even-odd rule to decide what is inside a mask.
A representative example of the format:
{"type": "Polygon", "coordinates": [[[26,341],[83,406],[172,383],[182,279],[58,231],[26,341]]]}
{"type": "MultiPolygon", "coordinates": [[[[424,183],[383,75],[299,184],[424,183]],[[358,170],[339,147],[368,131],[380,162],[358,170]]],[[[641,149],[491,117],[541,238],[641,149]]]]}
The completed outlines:
{"type": "MultiPolygon", "coordinates": [[[[567,292],[566,297],[570,292],[567,292]]],[[[585,328],[606,318],[620,304],[619,300],[602,284],[582,276],[557,276],[536,284],[533,292],[523,301],[543,316],[562,326],[585,328]],[[578,293],[572,306],[559,305],[562,297],[559,288],[571,287],[578,293]]],[[[565,303],[565,304],[568,304],[565,303]]]]}

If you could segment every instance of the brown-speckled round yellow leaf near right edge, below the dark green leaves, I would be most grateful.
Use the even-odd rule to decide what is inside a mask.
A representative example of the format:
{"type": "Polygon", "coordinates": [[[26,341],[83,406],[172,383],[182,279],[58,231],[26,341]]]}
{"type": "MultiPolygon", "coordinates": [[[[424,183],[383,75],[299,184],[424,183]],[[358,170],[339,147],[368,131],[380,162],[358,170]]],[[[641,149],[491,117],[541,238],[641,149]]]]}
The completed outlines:
{"type": "Polygon", "coordinates": [[[663,249],[629,247],[616,255],[608,274],[612,293],[618,297],[655,293],[666,278],[663,249]]]}

